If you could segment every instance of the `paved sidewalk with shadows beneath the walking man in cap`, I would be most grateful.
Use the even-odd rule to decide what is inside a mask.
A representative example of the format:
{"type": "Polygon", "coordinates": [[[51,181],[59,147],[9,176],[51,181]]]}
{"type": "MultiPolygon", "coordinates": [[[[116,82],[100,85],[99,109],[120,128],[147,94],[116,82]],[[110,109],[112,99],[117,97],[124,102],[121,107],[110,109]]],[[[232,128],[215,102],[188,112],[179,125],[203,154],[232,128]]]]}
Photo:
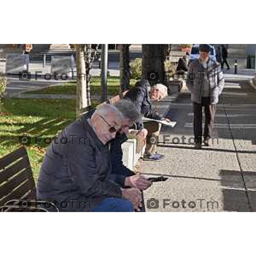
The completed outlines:
{"type": "Polygon", "coordinates": [[[193,137],[190,95],[182,94],[172,108],[177,109],[177,126],[163,127],[158,146],[165,159],[140,164],[149,176],[169,178],[145,191],[145,204],[150,198],[159,200],[157,209],[147,211],[256,211],[256,91],[249,82],[226,83],[212,135],[218,137],[218,144],[215,141],[201,151],[186,143],[172,143],[174,137],[184,135],[187,143],[193,137]],[[163,135],[171,141],[163,144],[163,135]],[[166,207],[163,199],[169,204],[166,207]],[[172,206],[174,201],[179,208],[174,208],[177,202],[172,206]],[[211,202],[216,202],[213,209],[211,202]]]}

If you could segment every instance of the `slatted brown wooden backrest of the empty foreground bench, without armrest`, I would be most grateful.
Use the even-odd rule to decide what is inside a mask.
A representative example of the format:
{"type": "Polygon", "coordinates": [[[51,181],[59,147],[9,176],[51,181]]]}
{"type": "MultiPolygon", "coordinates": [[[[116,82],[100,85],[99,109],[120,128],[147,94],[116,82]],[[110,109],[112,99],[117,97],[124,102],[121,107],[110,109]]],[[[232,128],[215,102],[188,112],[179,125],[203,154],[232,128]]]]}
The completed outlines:
{"type": "Polygon", "coordinates": [[[35,180],[24,147],[0,159],[0,206],[13,199],[36,199],[35,180]]]}

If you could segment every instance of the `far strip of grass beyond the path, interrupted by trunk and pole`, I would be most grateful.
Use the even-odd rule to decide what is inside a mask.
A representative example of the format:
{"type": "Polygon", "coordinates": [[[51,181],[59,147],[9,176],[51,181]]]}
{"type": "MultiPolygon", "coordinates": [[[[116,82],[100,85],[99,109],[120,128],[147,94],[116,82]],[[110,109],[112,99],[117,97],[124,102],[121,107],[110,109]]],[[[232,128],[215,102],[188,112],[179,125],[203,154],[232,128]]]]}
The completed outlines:
{"type": "MultiPolygon", "coordinates": [[[[131,84],[135,84],[136,80],[131,79],[131,84]]],[[[107,86],[108,86],[108,95],[116,95],[119,94],[119,77],[108,77],[107,86]]],[[[100,95],[101,94],[101,78],[93,77],[90,85],[90,90],[92,95],[100,95]]],[[[50,87],[29,91],[27,93],[32,94],[76,94],[76,81],[72,82],[64,82],[59,85],[52,85],[50,87]]]]}

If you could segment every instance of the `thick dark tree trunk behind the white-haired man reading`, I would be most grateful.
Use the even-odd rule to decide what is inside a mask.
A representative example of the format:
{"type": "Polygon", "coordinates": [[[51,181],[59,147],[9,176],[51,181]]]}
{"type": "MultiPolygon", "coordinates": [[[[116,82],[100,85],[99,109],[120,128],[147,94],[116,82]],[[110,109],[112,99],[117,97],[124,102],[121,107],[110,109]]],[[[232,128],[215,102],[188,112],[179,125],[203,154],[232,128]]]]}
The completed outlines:
{"type": "Polygon", "coordinates": [[[163,83],[164,74],[164,44],[143,44],[142,45],[142,76],[148,79],[151,85],[163,83]],[[151,71],[159,73],[159,78],[151,80],[148,75],[151,71]]]}

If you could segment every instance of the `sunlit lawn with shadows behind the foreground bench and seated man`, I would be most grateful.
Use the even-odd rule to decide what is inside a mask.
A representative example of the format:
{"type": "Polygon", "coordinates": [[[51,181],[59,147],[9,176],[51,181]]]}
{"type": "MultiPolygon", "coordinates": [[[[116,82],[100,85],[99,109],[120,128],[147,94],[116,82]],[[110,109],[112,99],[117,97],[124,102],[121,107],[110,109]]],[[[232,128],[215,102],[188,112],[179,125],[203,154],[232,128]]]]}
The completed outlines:
{"type": "MultiPolygon", "coordinates": [[[[75,99],[5,99],[0,106],[0,157],[18,148],[19,136],[53,138],[75,119],[75,99]]],[[[47,145],[26,146],[35,180],[47,145]]]]}

